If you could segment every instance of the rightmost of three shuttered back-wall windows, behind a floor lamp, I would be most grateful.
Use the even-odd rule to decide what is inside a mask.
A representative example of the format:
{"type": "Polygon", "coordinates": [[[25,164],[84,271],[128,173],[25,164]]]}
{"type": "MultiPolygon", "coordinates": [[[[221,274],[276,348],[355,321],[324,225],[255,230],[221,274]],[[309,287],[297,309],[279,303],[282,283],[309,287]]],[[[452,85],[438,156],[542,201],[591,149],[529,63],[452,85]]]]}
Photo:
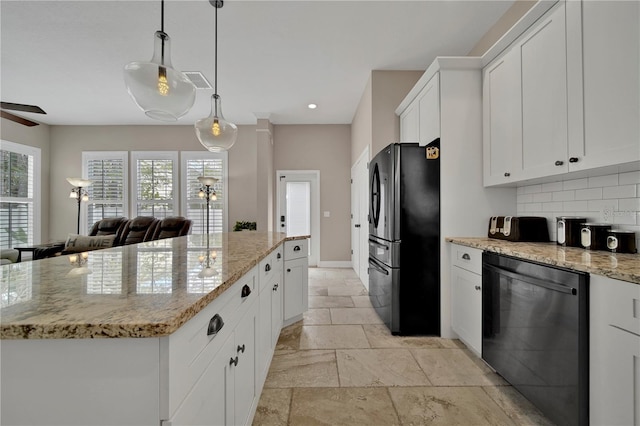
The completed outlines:
{"type": "Polygon", "coordinates": [[[204,234],[207,229],[207,203],[198,196],[198,176],[214,177],[216,200],[209,203],[209,232],[227,230],[227,153],[182,152],[182,206],[184,216],[193,221],[192,234],[204,234]]]}

